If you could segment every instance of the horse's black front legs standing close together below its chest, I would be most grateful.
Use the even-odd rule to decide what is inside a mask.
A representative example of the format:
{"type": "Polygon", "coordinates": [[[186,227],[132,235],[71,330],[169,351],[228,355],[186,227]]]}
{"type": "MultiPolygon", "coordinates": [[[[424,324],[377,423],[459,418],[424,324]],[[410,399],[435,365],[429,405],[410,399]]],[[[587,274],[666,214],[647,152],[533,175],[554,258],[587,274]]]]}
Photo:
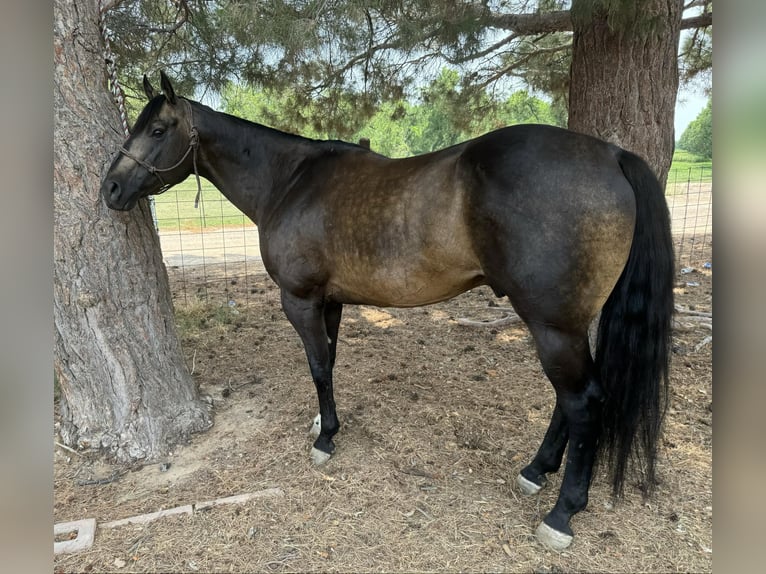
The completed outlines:
{"type": "Polygon", "coordinates": [[[332,390],[332,369],[341,307],[321,298],[300,298],[282,290],[282,309],[303,341],[319,397],[320,430],[311,449],[311,460],[314,464],[323,464],[335,450],[332,437],[340,428],[332,390]]]}

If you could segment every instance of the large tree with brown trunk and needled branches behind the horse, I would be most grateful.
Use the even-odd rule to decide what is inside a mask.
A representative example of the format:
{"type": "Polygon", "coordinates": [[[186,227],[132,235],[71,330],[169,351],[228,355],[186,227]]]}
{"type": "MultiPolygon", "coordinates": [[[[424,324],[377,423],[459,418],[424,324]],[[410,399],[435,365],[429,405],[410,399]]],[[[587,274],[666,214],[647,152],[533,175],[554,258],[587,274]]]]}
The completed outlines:
{"type": "MultiPolygon", "coordinates": [[[[353,134],[382,102],[411,98],[446,64],[460,74],[458,127],[485,89],[507,96],[524,82],[568,107],[569,127],[638,152],[664,181],[679,33],[709,30],[712,1],[126,0],[113,17],[118,38],[128,31],[124,60],[141,71],[183,62],[174,70],[182,81],[290,89],[324,110],[295,130],[353,134]],[[686,9],[695,12],[682,20],[686,9]]],[[[710,69],[710,37],[690,36],[683,81],[710,69]]]]}

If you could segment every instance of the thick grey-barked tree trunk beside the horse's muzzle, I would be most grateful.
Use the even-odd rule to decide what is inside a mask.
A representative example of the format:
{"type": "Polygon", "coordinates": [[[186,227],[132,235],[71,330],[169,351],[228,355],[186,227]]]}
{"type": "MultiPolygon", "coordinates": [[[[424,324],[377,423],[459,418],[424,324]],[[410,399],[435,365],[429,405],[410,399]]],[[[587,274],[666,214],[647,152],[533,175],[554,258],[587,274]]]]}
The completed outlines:
{"type": "Polygon", "coordinates": [[[97,0],[54,2],[54,325],[61,440],[153,460],[210,427],[186,368],[147,203],[110,211],[99,185],[122,140],[97,0]]]}

